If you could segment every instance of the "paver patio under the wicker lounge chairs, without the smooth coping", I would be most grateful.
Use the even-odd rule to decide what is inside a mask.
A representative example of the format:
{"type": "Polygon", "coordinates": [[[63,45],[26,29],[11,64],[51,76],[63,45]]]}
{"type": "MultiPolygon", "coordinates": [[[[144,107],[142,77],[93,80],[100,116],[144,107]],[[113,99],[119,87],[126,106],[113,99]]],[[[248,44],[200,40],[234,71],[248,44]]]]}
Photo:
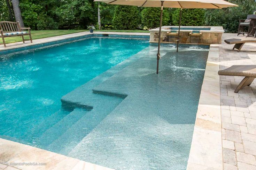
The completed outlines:
{"type": "MultiPolygon", "coordinates": [[[[256,64],[256,44],[247,43],[240,52],[225,39],[252,37],[223,34],[219,45],[220,69],[232,65],[256,64]]],[[[239,93],[234,93],[243,77],[220,76],[220,104],[222,116],[222,147],[224,170],[256,169],[256,81],[239,93]]]]}

